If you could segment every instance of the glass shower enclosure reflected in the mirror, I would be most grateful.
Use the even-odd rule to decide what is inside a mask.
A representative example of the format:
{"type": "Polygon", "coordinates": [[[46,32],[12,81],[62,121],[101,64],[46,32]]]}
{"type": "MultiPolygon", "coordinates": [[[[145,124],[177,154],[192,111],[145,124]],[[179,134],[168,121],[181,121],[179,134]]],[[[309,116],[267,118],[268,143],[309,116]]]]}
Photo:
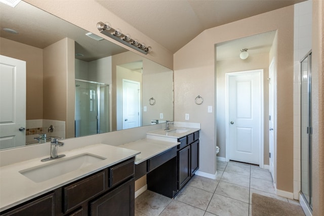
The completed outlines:
{"type": "Polygon", "coordinates": [[[75,137],[109,132],[109,85],[75,79],[75,137]]]}

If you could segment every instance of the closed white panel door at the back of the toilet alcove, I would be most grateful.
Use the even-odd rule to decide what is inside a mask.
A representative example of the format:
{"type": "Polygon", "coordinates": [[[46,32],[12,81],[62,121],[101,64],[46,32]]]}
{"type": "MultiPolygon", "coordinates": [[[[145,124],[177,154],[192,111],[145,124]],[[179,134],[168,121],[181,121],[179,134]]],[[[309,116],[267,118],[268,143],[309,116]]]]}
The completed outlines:
{"type": "MultiPolygon", "coordinates": [[[[260,164],[263,70],[227,74],[229,159],[260,164]]],[[[263,164],[263,163],[262,163],[263,164]]]]}

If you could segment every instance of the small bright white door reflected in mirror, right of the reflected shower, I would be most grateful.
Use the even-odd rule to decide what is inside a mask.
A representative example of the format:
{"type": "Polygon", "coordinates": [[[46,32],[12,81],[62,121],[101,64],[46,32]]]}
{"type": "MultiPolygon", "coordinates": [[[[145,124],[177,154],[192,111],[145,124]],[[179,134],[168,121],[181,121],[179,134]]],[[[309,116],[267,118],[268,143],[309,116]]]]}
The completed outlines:
{"type": "Polygon", "coordinates": [[[140,82],[123,79],[123,129],[140,122],[140,82]]]}

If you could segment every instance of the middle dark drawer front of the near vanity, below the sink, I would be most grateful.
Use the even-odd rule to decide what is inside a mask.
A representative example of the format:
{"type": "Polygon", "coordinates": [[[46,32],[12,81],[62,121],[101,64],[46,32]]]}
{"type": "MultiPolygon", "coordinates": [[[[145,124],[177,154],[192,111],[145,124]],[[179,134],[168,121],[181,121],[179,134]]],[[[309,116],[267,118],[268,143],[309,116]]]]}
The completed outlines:
{"type": "Polygon", "coordinates": [[[84,180],[63,187],[63,211],[67,212],[80,203],[104,192],[106,181],[105,171],[101,171],[84,180]]]}

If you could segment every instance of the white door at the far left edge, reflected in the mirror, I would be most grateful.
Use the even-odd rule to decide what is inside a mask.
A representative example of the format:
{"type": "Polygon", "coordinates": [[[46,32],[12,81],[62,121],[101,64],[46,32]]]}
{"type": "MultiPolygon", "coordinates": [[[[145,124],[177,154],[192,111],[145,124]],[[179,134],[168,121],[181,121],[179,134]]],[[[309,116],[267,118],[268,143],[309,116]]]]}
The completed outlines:
{"type": "Polygon", "coordinates": [[[0,55],[0,149],[26,143],[26,62],[0,55]]]}

